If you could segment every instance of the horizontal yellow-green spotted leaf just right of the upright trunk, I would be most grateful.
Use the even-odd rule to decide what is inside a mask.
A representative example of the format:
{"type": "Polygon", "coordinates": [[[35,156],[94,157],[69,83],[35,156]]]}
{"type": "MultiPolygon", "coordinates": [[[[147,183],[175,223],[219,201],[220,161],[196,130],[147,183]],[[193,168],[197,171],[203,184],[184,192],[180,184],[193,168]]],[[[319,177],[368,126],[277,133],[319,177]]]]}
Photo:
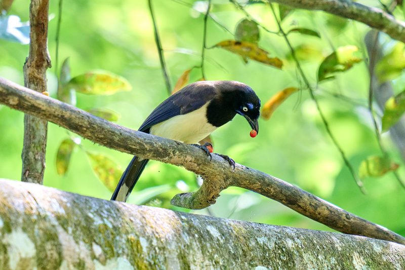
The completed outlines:
{"type": "Polygon", "coordinates": [[[104,70],[89,71],[75,76],[67,87],[90,95],[112,95],[119,91],[132,89],[125,78],[104,70]]]}

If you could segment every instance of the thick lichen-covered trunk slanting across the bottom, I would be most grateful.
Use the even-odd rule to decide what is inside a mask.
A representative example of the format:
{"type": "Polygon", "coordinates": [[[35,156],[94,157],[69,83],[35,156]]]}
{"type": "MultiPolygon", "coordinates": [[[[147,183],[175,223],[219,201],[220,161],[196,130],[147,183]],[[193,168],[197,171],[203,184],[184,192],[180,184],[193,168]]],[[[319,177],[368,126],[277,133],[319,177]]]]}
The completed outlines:
{"type": "Polygon", "coordinates": [[[405,246],[0,179],[0,268],[403,269],[405,246]],[[46,196],[44,196],[46,194],[46,196]]]}

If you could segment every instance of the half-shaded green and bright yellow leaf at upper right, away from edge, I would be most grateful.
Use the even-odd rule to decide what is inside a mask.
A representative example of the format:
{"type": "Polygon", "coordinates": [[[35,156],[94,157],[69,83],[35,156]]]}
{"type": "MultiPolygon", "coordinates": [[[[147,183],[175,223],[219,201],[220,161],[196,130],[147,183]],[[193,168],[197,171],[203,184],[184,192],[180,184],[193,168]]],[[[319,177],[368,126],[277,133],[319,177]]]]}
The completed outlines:
{"type": "Polygon", "coordinates": [[[354,55],[358,48],[354,45],[339,47],[336,52],[328,55],[318,69],[318,82],[333,79],[333,73],[350,69],[353,64],[361,61],[354,55]]]}

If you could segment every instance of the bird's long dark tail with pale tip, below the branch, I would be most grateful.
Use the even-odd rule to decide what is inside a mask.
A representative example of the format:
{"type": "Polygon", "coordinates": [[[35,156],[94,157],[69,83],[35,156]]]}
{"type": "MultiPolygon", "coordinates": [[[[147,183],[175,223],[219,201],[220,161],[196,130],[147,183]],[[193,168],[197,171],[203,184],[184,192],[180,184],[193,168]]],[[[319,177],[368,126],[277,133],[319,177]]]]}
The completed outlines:
{"type": "Polygon", "coordinates": [[[127,169],[121,176],[121,179],[119,179],[118,185],[111,197],[111,201],[127,201],[128,196],[141,176],[148,161],[149,160],[139,160],[139,157],[137,156],[131,160],[127,169]]]}

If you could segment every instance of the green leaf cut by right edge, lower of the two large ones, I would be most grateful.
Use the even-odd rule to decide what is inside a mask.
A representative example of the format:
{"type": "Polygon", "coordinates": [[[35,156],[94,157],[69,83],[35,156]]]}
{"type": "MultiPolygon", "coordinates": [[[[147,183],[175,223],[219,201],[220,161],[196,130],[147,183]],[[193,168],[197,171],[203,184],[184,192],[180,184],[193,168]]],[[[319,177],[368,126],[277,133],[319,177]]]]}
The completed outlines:
{"type": "Polygon", "coordinates": [[[390,97],[385,102],[385,110],[382,118],[383,131],[389,130],[398,122],[405,112],[405,90],[396,96],[390,97]]]}

